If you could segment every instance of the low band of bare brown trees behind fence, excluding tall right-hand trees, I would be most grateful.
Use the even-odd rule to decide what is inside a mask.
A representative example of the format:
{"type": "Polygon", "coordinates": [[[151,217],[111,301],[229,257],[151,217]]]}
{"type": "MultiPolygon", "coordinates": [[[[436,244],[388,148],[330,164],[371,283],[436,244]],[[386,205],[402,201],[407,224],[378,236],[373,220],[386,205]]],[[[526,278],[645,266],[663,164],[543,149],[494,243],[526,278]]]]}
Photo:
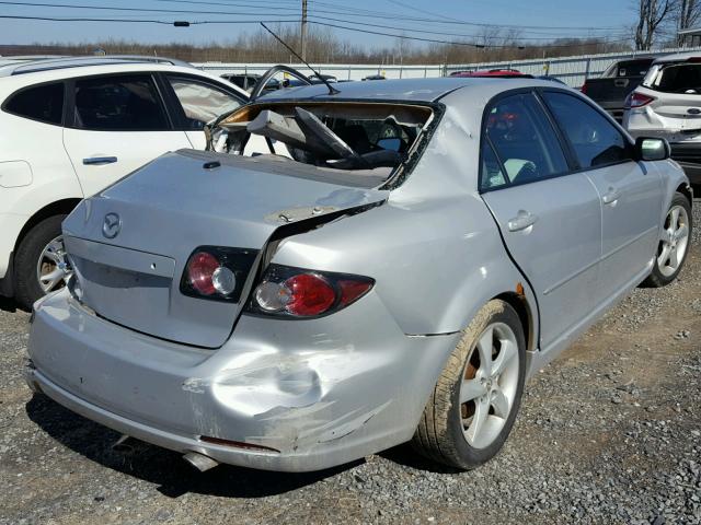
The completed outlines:
{"type": "MultiPolygon", "coordinates": [[[[276,33],[292,48],[300,49],[299,28],[276,27],[276,33]]],[[[517,32],[485,27],[470,44],[424,44],[395,38],[389,45],[354,44],[336,36],[330,28],[312,27],[307,37],[307,59],[312,63],[424,65],[471,63],[498,60],[561,57],[630,49],[620,43],[598,38],[560,38],[547,45],[524,45],[517,32]]],[[[85,42],[81,44],[0,45],[0,55],[150,55],[177,58],[188,62],[279,62],[297,63],[295,57],[269,34],[255,31],[238,38],[208,44],[141,44],[123,39],[85,42]]]]}

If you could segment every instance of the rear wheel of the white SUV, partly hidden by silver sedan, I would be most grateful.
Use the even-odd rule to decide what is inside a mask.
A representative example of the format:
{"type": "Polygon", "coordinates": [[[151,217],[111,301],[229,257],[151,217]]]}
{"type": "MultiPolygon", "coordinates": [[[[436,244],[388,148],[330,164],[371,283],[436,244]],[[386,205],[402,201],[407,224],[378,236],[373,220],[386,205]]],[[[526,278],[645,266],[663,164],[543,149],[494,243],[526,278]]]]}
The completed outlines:
{"type": "Polygon", "coordinates": [[[26,233],[14,256],[14,296],[27,310],[37,299],[64,287],[65,218],[53,215],[37,223],[26,233]]]}

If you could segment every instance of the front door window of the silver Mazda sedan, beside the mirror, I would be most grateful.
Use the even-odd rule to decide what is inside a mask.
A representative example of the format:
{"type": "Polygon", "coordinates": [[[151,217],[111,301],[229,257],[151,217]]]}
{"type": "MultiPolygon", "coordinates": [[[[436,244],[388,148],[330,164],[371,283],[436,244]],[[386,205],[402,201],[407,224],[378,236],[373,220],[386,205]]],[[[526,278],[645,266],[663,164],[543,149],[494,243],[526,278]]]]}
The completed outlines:
{"type": "Polygon", "coordinates": [[[596,167],[632,159],[628,141],[604,115],[565,93],[543,93],[579,167],[596,167]]]}

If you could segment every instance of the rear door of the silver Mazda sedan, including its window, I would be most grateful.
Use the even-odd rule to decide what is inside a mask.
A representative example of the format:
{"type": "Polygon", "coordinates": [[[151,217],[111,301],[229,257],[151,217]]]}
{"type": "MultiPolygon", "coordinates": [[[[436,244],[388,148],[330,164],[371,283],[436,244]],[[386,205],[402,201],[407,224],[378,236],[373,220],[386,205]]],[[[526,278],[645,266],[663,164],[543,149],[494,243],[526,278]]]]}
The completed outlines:
{"type": "Polygon", "coordinates": [[[533,92],[491,103],[482,131],[482,198],[529,280],[547,350],[591,312],[601,255],[599,196],[571,173],[555,128],[533,92]]]}

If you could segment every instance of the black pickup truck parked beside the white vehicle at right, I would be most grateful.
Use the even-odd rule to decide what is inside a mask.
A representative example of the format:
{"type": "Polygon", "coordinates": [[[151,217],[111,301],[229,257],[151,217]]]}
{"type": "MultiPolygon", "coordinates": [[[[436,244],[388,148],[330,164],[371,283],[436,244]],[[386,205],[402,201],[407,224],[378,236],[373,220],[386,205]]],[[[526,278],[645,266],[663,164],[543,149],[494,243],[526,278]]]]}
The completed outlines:
{"type": "Polygon", "coordinates": [[[654,57],[643,57],[614,62],[600,78],[587,79],[582,86],[582,93],[621,122],[629,93],[643,81],[654,59],[654,57]]]}

